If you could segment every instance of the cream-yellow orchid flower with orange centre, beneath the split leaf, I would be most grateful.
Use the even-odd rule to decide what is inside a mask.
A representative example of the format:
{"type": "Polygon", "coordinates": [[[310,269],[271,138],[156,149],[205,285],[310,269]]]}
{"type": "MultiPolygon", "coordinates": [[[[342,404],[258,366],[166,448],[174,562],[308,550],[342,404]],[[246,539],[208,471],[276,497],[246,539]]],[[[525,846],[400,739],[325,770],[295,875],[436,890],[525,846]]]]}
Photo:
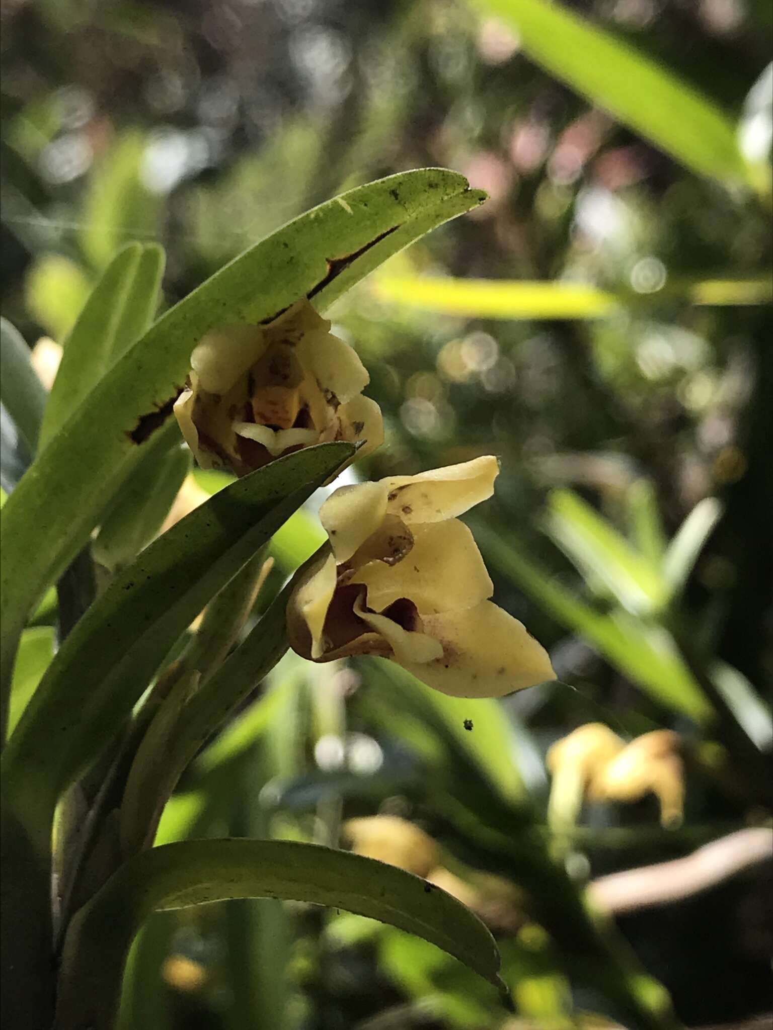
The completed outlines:
{"type": "Polygon", "coordinates": [[[381,412],[362,396],[370,377],[308,301],[266,325],[210,330],[191,354],[190,386],[174,405],[203,469],[244,476],[311,444],[383,441],[381,412]]]}

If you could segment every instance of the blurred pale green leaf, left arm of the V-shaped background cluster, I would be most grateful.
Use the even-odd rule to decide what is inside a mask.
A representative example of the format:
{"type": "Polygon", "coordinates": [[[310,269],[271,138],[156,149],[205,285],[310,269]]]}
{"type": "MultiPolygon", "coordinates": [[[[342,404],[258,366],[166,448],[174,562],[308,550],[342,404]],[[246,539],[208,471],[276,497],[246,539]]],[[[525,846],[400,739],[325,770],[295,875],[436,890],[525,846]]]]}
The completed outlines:
{"type": "Polygon", "coordinates": [[[634,550],[606,519],[572,490],[551,490],[546,531],[589,577],[603,583],[630,612],[659,609],[666,583],[653,565],[634,550]]]}

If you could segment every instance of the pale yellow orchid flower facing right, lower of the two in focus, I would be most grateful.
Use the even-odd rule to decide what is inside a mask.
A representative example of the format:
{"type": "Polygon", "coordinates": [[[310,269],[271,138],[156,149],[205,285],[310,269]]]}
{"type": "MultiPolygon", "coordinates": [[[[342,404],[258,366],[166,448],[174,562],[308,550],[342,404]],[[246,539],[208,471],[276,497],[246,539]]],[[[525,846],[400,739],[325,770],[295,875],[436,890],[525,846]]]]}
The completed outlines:
{"type": "Polygon", "coordinates": [[[320,510],[329,546],[288,606],[291,646],[312,661],[392,658],[458,697],[495,697],[556,674],[494,587],[457,516],[494,492],[497,459],[343,486],[320,510]]]}

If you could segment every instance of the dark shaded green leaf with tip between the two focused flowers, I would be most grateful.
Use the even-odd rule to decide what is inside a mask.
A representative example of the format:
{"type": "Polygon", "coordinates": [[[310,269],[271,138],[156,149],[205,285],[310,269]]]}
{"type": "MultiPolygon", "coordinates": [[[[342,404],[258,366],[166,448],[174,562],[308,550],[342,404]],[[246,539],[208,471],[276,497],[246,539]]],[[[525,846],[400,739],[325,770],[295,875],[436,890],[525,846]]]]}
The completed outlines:
{"type": "Polygon", "coordinates": [[[321,444],[237,480],[114,578],[57,653],[6,746],[3,787],[23,822],[48,818],[209,598],[352,453],[351,444],[321,444]]]}

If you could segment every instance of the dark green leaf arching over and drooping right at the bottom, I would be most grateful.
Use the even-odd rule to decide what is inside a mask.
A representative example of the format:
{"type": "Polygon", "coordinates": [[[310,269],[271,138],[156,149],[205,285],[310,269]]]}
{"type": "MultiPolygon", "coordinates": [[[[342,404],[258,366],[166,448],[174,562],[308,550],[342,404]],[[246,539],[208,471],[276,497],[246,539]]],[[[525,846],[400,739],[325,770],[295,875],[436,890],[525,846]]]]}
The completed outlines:
{"type": "Polygon", "coordinates": [[[74,917],[56,1030],[109,1030],[126,956],[150,913],[273,897],[344,908],[431,941],[502,989],[489,930],[460,901],[395,866],[289,840],[187,840],[127,862],[74,917]]]}

